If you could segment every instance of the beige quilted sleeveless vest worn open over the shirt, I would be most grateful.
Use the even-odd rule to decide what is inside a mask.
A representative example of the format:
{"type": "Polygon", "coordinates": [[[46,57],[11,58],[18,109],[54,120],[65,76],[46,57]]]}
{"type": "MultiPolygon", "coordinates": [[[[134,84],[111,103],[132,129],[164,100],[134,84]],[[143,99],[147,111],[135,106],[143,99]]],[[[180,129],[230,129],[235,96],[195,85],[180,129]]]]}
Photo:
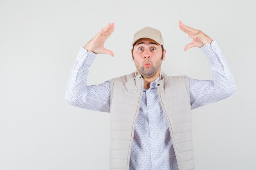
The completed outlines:
{"type": "MultiPolygon", "coordinates": [[[[111,79],[109,170],[129,170],[143,87],[144,79],[136,71],[111,79]]],[[[155,87],[168,122],[179,170],[194,170],[189,78],[161,72],[155,87]]]]}

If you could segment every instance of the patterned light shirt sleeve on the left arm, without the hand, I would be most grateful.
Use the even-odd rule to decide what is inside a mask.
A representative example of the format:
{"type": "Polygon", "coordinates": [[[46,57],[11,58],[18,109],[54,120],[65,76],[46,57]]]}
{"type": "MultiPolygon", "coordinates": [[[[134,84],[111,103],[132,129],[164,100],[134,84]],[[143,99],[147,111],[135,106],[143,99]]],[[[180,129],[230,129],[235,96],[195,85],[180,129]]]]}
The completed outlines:
{"type": "Polygon", "coordinates": [[[81,47],[66,85],[65,100],[79,108],[110,113],[110,80],[91,86],[86,83],[95,57],[95,53],[81,47]]]}

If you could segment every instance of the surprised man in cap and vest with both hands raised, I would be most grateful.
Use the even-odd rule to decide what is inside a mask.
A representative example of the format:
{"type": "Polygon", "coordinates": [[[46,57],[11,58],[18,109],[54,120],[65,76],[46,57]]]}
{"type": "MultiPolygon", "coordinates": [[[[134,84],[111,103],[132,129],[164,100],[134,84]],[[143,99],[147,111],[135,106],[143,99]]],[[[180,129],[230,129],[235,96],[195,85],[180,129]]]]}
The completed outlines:
{"type": "Polygon", "coordinates": [[[193,38],[185,46],[202,49],[213,80],[168,76],[161,71],[166,50],[162,34],[145,27],[132,42],[136,71],[102,84],[86,85],[96,54],[112,51],[104,42],[114,31],[109,23],[81,47],[72,67],[65,99],[73,106],[110,113],[110,170],[193,170],[191,109],[232,95],[236,86],[215,40],[179,22],[193,38]]]}

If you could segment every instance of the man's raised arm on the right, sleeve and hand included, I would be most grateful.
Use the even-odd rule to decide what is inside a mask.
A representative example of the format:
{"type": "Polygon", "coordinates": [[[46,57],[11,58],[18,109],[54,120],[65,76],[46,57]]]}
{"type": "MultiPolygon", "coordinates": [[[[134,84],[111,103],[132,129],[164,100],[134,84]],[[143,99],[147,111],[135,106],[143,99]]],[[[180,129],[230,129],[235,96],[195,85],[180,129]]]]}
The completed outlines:
{"type": "Polygon", "coordinates": [[[216,41],[213,41],[201,30],[193,29],[179,21],[180,29],[193,38],[193,42],[185,46],[185,51],[192,47],[200,47],[210,62],[213,80],[189,78],[191,108],[225,99],[236,91],[234,77],[229,70],[227,61],[216,41]]]}

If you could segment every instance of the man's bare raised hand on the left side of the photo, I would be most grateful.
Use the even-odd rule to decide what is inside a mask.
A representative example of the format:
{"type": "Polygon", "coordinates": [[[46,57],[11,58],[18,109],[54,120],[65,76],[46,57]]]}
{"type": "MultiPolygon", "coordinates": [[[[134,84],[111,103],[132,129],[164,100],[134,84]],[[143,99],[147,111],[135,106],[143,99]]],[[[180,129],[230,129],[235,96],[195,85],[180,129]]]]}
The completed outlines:
{"type": "Polygon", "coordinates": [[[104,29],[102,28],[83,48],[96,54],[109,54],[113,57],[113,52],[105,49],[104,43],[114,31],[114,28],[114,22],[108,23],[108,25],[104,29]]]}

